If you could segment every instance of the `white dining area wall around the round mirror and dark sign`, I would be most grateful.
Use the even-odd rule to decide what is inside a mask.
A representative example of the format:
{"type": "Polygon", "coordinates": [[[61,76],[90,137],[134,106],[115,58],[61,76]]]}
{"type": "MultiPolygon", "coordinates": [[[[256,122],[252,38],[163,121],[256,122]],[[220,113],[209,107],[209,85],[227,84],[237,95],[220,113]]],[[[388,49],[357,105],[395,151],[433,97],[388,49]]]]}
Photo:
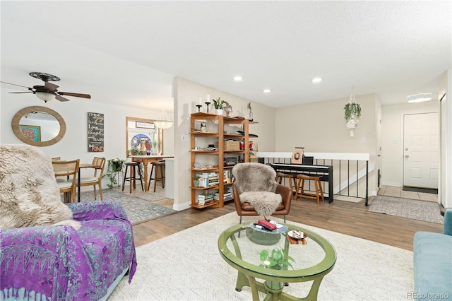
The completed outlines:
{"type": "MultiPolygon", "coordinates": [[[[31,94],[8,94],[9,89],[1,89],[0,100],[0,143],[20,143],[11,129],[11,119],[18,110],[24,107],[40,105],[49,107],[58,112],[66,122],[66,134],[53,146],[44,146],[42,151],[52,157],[63,159],[79,158],[81,163],[91,163],[93,157],[126,158],[126,116],[157,119],[160,112],[143,110],[136,107],[124,107],[118,105],[105,105],[102,102],[85,100],[83,98],[71,98],[69,102],[44,103],[31,94]],[[88,112],[102,113],[105,116],[105,151],[102,153],[88,152],[87,118],[88,112]]],[[[174,136],[172,129],[164,130],[165,155],[173,155],[174,136]]],[[[107,186],[107,179],[102,181],[102,186],[107,186]]],[[[89,188],[89,187],[88,187],[89,188]]]]}

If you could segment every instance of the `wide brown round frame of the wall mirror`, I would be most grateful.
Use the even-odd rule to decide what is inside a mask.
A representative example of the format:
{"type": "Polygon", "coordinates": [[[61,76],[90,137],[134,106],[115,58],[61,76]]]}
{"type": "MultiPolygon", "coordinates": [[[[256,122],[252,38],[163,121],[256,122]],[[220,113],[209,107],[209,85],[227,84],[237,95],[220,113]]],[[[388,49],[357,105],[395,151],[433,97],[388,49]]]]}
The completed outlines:
{"type": "Polygon", "coordinates": [[[24,107],[22,110],[19,110],[11,121],[11,127],[13,128],[13,132],[16,137],[19,138],[20,141],[30,144],[30,146],[52,146],[53,144],[60,141],[61,138],[63,138],[64,134],[66,134],[66,122],[64,122],[63,117],[61,117],[60,114],[52,109],[49,109],[48,107],[41,107],[38,105],[32,107],[24,107]],[[22,131],[20,131],[20,119],[33,112],[45,112],[55,117],[55,119],[57,119],[57,121],[59,122],[59,133],[57,134],[57,136],[47,141],[34,141],[23,135],[22,131]]]}

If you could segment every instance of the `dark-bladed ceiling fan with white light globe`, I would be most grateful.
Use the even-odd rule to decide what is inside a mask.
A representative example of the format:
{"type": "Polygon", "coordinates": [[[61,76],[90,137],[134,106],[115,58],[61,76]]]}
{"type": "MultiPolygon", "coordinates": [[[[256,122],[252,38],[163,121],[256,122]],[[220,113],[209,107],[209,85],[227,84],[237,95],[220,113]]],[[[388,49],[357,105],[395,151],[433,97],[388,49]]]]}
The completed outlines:
{"type": "MultiPolygon", "coordinates": [[[[42,73],[42,72],[30,72],[30,76],[34,78],[38,78],[44,81],[44,85],[33,85],[33,88],[26,87],[25,85],[17,85],[16,83],[7,83],[8,85],[17,85],[19,87],[27,88],[29,91],[26,92],[10,92],[10,93],[33,93],[40,100],[44,100],[44,102],[48,102],[50,100],[54,100],[57,98],[59,101],[69,101],[69,99],[64,98],[63,96],[73,96],[76,98],[91,98],[89,94],[81,94],[81,93],[71,93],[71,92],[61,92],[57,90],[59,85],[54,85],[53,83],[49,83],[49,81],[59,81],[60,78],[58,76],[53,76],[52,74],[42,73]]],[[[1,81],[1,83],[6,83],[1,81]]]]}

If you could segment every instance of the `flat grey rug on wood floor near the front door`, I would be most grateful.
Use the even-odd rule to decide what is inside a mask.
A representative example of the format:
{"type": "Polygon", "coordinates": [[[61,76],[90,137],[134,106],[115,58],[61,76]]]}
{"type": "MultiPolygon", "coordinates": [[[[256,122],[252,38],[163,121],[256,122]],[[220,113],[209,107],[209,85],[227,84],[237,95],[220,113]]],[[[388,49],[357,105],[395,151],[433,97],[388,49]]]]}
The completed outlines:
{"type": "Polygon", "coordinates": [[[369,212],[384,213],[413,220],[424,220],[430,223],[444,223],[438,203],[401,199],[392,196],[374,196],[369,212]]]}

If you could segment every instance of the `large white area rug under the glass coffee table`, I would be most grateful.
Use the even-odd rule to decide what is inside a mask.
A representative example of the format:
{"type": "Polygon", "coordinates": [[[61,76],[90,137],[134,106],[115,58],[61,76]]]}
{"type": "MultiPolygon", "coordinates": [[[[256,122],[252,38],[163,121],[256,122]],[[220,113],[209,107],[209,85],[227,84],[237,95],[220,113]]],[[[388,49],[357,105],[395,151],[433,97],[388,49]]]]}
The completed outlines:
{"type": "MultiPolygon", "coordinates": [[[[244,223],[255,219],[244,217],[244,223]]],[[[132,282],[122,279],[108,300],[251,300],[249,287],[235,291],[237,270],[226,264],[218,251],[218,236],[238,220],[237,213],[228,213],[138,247],[138,268],[132,282]]],[[[292,224],[322,235],[338,254],[333,271],[323,278],[319,300],[407,300],[413,291],[411,251],[292,224]]],[[[308,290],[307,283],[290,283],[284,288],[297,297],[306,296],[308,290]]],[[[260,297],[262,300],[264,295],[260,297]]]]}

